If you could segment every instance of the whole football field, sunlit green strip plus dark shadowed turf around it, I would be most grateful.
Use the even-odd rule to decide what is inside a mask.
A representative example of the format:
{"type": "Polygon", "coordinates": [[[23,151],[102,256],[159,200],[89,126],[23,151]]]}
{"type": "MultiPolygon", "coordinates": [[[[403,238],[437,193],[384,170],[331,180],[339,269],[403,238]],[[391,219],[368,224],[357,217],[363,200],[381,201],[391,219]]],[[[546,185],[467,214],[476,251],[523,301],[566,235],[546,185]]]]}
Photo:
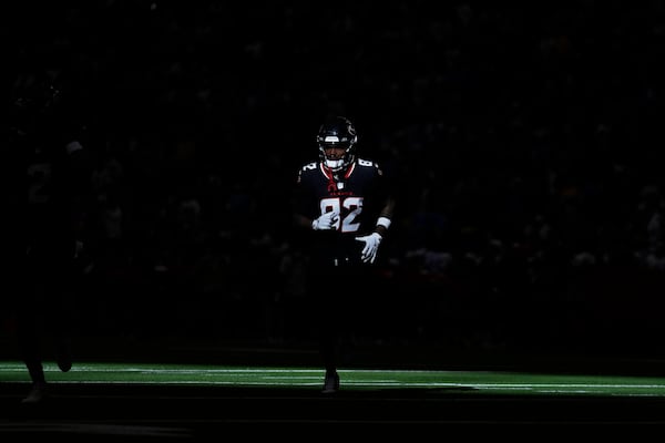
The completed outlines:
{"type": "Polygon", "coordinates": [[[303,430],[340,437],[351,430],[375,437],[490,432],[530,441],[554,432],[593,431],[597,437],[627,430],[641,441],[636,435],[665,430],[665,362],[658,359],[475,358],[368,347],[357,350],[355,365],[339,370],[340,391],[324,395],[324,371],[307,348],[93,344],[79,348],[66,373],[47,361],[51,396],[37,406],[20,402],[30,389],[23,363],[0,360],[0,441],[37,434],[86,442],[316,435],[303,430]]]}

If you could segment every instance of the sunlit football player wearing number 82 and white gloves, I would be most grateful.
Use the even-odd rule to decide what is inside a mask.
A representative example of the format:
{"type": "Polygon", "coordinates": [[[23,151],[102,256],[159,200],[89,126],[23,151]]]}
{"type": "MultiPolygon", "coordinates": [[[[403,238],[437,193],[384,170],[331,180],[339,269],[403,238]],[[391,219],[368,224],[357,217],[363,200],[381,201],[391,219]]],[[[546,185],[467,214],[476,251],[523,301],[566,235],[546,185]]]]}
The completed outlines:
{"type": "Polygon", "coordinates": [[[370,269],[393,217],[395,197],[379,165],[357,156],[358,135],[344,116],[321,124],[318,161],[297,175],[294,223],[305,229],[308,292],[315,298],[324,393],[339,389],[342,339],[357,326],[370,269]]]}

